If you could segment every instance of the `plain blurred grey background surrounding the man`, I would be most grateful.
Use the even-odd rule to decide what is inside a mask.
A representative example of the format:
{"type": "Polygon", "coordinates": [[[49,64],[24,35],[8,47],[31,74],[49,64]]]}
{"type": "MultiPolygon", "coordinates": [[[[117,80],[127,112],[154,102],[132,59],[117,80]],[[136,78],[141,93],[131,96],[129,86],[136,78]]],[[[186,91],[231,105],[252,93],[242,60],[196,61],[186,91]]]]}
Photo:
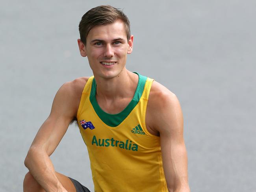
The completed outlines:
{"type": "MultiPolygon", "coordinates": [[[[0,191],[22,191],[24,159],[66,81],[91,76],[82,15],[110,4],[130,18],[127,68],[174,92],[184,113],[191,192],[256,191],[256,1],[0,0],[0,191]]],[[[93,191],[86,146],[69,127],[55,169],[93,191]]]]}

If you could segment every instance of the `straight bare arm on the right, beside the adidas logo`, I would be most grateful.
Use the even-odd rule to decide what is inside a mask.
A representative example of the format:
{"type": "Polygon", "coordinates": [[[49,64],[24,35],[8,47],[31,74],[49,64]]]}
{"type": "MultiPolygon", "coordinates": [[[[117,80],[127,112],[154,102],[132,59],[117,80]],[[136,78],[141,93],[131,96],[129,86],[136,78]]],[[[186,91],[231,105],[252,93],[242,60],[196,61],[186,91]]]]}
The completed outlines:
{"type": "MultiPolygon", "coordinates": [[[[189,192],[187,152],[183,138],[183,116],[175,94],[155,83],[150,103],[154,113],[154,126],[160,133],[163,168],[170,192],[189,192]],[[154,91],[156,90],[156,91],[154,91]]],[[[151,109],[152,110],[152,109],[151,109]]]]}

